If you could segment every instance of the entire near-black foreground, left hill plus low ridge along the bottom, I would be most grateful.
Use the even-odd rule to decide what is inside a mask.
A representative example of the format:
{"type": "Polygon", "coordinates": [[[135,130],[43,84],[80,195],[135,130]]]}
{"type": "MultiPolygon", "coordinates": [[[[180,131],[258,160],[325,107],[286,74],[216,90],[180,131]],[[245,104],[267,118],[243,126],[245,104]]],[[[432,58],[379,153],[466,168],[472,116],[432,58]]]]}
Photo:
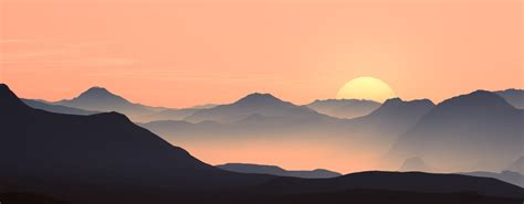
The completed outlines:
{"type": "Polygon", "coordinates": [[[0,85],[0,161],[2,204],[17,203],[13,194],[29,203],[73,204],[524,200],[518,186],[467,175],[366,172],[306,180],[231,173],[195,159],[123,115],[32,109],[6,85],[0,85]]]}

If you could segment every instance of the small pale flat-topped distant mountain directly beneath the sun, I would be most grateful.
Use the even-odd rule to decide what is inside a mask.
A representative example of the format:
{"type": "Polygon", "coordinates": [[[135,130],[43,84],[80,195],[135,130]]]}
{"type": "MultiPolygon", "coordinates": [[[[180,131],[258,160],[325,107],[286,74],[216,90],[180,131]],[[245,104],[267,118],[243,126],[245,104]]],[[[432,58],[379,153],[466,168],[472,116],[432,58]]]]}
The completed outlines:
{"type": "Polygon", "coordinates": [[[350,119],[370,114],[376,110],[380,104],[373,100],[327,99],[315,100],[306,106],[327,116],[350,119]]]}

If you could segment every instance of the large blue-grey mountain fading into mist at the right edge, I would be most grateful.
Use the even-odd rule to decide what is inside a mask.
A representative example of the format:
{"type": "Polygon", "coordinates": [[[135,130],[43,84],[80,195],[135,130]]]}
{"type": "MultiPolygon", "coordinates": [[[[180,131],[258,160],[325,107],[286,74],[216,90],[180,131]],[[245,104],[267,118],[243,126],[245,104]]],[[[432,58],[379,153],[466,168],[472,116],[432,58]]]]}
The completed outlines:
{"type": "Polygon", "coordinates": [[[440,103],[401,136],[388,160],[420,157],[443,171],[501,171],[524,153],[524,111],[478,90],[440,103]]]}

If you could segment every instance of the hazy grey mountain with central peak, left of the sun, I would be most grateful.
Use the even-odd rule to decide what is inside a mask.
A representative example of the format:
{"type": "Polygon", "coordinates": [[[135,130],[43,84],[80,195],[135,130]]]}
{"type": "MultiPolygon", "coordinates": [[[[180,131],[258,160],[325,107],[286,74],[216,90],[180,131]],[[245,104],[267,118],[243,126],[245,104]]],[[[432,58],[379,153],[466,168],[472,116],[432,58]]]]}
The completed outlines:
{"type": "Polygon", "coordinates": [[[254,93],[233,104],[219,105],[213,108],[198,110],[191,116],[185,118],[185,120],[191,122],[200,122],[205,120],[231,122],[255,114],[270,117],[282,116],[295,119],[324,116],[307,107],[301,107],[283,101],[271,94],[254,93]]]}

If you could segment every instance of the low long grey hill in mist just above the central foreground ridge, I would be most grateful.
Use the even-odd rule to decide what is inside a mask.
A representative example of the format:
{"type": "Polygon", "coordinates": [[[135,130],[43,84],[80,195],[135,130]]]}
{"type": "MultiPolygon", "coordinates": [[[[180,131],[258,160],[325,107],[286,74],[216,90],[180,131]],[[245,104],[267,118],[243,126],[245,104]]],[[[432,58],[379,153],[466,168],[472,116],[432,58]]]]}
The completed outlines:
{"type": "Polygon", "coordinates": [[[293,178],[304,178],[304,179],[322,179],[322,178],[336,178],[340,176],[340,173],[316,169],[312,171],[289,171],[284,170],[276,165],[261,165],[261,164],[251,164],[251,163],[226,163],[221,165],[216,165],[222,170],[239,172],[239,173],[260,173],[260,174],[270,174],[279,176],[293,176],[293,178]]]}

